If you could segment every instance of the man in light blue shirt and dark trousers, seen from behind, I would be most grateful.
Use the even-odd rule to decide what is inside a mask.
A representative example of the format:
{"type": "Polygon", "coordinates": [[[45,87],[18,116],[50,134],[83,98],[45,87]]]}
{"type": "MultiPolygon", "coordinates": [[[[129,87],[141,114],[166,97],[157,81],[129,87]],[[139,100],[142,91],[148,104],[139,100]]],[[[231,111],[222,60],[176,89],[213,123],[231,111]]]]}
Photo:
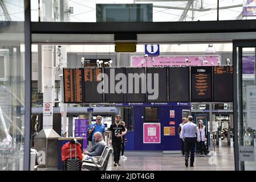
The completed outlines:
{"type": "Polygon", "coordinates": [[[181,137],[185,144],[185,166],[188,167],[190,153],[190,167],[194,167],[194,148],[196,146],[197,125],[193,123],[193,117],[189,115],[188,123],[181,129],[181,137]]]}

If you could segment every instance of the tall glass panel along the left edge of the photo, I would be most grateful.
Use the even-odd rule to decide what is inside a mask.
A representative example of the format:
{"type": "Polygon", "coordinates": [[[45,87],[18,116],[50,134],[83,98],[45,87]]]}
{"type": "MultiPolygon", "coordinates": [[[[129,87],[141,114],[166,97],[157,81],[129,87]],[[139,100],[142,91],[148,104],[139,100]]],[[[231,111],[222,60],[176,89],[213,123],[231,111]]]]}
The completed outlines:
{"type": "Polygon", "coordinates": [[[23,169],[25,118],[24,1],[0,6],[0,171],[23,169]]]}

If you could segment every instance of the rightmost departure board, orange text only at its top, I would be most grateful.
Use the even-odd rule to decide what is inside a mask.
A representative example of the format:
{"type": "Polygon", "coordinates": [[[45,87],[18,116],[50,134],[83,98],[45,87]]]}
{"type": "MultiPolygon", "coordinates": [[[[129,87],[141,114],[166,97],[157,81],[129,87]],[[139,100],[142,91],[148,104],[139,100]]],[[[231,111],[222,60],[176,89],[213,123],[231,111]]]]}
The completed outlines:
{"type": "Polygon", "coordinates": [[[233,102],[233,67],[214,67],[213,101],[233,102]]]}

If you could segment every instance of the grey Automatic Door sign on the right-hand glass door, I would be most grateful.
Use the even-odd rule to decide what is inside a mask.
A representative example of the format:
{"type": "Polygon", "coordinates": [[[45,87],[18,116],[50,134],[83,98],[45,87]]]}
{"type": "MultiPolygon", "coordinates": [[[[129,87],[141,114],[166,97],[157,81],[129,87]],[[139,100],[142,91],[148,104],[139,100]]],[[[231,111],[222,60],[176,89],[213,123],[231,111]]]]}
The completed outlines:
{"type": "Polygon", "coordinates": [[[239,161],[254,162],[254,146],[239,146],[239,161]]]}

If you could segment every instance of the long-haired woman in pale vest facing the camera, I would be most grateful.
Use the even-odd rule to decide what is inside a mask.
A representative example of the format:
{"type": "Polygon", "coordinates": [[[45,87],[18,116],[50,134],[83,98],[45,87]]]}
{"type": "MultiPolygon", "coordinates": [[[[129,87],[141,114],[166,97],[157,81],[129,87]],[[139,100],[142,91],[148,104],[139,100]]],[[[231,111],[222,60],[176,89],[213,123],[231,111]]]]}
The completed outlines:
{"type": "Polygon", "coordinates": [[[206,135],[206,127],[203,124],[204,122],[202,119],[198,120],[198,126],[197,126],[197,144],[200,150],[201,157],[207,156],[207,150],[205,146],[205,142],[207,140],[206,135]]]}

